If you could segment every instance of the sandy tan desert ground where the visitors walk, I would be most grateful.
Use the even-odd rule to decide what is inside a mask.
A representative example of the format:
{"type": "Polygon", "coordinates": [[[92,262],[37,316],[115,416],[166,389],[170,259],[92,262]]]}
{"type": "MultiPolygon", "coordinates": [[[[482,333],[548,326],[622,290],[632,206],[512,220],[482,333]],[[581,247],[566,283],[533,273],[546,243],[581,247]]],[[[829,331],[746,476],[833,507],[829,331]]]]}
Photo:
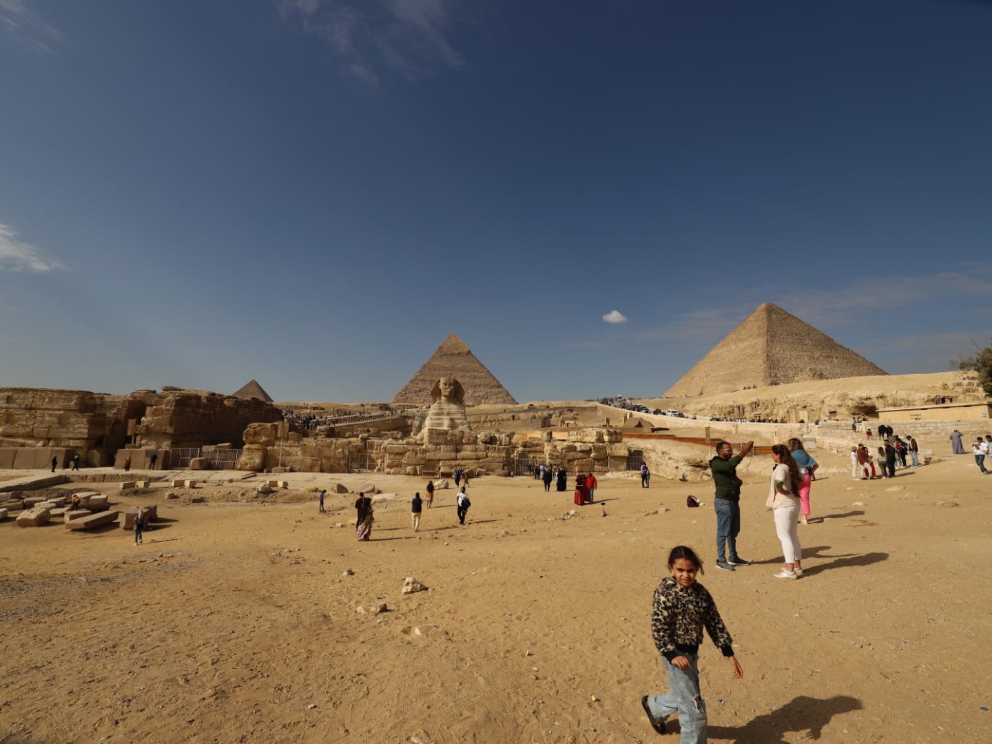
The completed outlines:
{"type": "Polygon", "coordinates": [[[480,478],[464,527],[438,491],[418,534],[415,478],[291,474],[264,505],[243,473],[210,473],[205,503],[97,484],[166,521],[140,547],[119,528],[0,524],[0,742],[678,741],[639,700],[666,686],[651,598],[682,543],[708,563],[745,672],[731,679],[707,639],[710,741],[992,741],[992,477],[958,455],[852,481],[846,457],[817,456],[798,581],[772,576],[769,457],[742,465],[755,564],[734,573],[712,565],[708,482],[607,476],[579,508],[480,478]],[[368,481],[384,493],[359,544],[354,495],[320,514],[306,489],[368,481]],[[406,576],[429,589],[402,594],[406,576]]]}

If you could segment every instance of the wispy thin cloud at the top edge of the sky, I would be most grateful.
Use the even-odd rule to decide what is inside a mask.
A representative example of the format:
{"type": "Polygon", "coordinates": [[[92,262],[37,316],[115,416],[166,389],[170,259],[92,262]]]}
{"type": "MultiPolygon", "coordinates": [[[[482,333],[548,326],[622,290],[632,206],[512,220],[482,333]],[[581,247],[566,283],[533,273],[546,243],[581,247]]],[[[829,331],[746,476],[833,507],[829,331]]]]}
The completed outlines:
{"type": "MultiPolygon", "coordinates": [[[[18,0],[0,0],[18,1],[18,0]]],[[[298,22],[340,59],[341,71],[371,87],[383,70],[419,80],[464,58],[448,40],[459,0],[279,0],[280,18],[298,22]]]]}

